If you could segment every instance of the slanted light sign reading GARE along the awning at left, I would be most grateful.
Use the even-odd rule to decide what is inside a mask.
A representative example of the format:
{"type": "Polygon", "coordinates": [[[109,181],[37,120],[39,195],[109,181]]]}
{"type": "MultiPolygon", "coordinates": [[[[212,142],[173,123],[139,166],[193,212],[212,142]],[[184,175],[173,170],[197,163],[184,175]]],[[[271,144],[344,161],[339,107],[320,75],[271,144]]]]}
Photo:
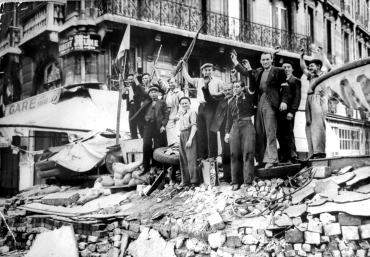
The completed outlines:
{"type": "Polygon", "coordinates": [[[21,113],[27,110],[42,107],[48,103],[56,104],[59,101],[61,88],[57,88],[25,100],[9,104],[5,107],[5,116],[21,113]]]}

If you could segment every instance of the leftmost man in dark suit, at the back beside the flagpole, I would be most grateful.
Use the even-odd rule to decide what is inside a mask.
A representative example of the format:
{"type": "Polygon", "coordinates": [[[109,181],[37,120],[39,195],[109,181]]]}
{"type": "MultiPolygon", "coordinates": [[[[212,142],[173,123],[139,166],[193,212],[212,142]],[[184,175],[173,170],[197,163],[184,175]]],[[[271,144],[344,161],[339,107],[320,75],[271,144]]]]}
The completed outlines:
{"type": "Polygon", "coordinates": [[[126,99],[126,106],[128,111],[128,119],[129,119],[129,126],[130,126],[130,133],[132,139],[137,139],[138,134],[137,130],[139,130],[140,136],[143,137],[144,135],[144,126],[142,124],[138,124],[130,119],[137,113],[140,109],[140,104],[143,101],[142,96],[138,87],[141,85],[135,85],[134,83],[134,75],[129,74],[127,76],[127,80],[124,82],[122,99],[126,99]]]}

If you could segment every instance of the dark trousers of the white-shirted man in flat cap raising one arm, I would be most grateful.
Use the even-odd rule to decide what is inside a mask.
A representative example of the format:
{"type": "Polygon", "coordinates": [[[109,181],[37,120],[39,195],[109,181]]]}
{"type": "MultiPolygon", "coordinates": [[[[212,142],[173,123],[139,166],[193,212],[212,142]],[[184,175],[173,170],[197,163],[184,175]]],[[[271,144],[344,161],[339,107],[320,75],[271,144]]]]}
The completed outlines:
{"type": "Polygon", "coordinates": [[[217,134],[210,130],[216,108],[209,104],[200,104],[197,116],[198,156],[202,159],[217,157],[217,134]]]}

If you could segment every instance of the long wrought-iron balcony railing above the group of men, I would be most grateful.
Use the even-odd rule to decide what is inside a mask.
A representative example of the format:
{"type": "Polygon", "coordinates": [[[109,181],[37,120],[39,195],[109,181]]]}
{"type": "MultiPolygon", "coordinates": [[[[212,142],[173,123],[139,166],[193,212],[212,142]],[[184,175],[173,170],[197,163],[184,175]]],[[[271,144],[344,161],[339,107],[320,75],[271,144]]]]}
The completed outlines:
{"type": "Polygon", "coordinates": [[[202,10],[167,0],[100,0],[98,16],[113,14],[195,32],[206,20],[203,34],[247,44],[299,53],[308,49],[310,39],[301,34],[246,22],[227,15],[202,10]]]}

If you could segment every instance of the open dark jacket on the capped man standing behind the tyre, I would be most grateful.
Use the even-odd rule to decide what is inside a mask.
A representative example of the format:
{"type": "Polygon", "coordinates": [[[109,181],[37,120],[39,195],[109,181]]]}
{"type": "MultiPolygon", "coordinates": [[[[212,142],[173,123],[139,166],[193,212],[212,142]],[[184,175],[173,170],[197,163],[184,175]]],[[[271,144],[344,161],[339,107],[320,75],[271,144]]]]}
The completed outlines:
{"type": "MultiPolygon", "coordinates": [[[[143,105],[140,107],[140,109],[137,111],[137,113],[130,119],[130,121],[134,121],[136,123],[145,123],[145,114],[148,111],[148,108],[152,106],[152,99],[147,99],[144,101],[143,105]]],[[[155,118],[156,118],[156,124],[157,129],[159,130],[161,126],[166,127],[168,122],[168,108],[166,105],[166,102],[157,99],[157,102],[154,106],[155,108],[155,118]]]]}

